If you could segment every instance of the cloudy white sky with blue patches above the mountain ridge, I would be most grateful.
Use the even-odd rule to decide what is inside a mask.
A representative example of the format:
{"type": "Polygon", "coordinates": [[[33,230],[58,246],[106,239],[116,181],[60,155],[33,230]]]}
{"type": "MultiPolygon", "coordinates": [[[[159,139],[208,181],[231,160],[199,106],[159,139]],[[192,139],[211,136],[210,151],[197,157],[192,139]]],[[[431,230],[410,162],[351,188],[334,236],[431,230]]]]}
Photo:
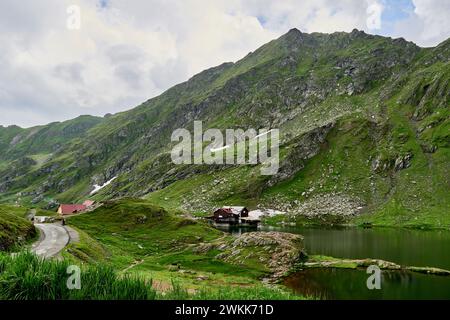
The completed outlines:
{"type": "Polygon", "coordinates": [[[130,109],[296,27],[435,46],[449,0],[2,0],[0,125],[130,109]]]}

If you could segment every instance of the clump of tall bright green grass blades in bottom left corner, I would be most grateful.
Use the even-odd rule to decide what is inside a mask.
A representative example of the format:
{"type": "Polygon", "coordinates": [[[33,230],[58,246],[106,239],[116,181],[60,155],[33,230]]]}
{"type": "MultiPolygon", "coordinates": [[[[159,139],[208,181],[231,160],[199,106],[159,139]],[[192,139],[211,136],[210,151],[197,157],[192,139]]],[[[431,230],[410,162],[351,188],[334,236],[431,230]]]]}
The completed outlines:
{"type": "Polygon", "coordinates": [[[148,300],[156,298],[151,281],[119,277],[103,265],[83,267],[81,288],[70,290],[68,261],[49,261],[31,253],[0,254],[0,299],[3,300],[148,300]]]}

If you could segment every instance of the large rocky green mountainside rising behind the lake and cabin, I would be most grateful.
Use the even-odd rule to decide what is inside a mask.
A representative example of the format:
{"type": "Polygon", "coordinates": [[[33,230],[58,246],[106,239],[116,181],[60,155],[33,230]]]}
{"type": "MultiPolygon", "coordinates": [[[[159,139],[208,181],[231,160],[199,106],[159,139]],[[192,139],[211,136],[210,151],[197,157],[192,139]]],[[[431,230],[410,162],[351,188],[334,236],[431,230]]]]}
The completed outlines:
{"type": "MultiPolygon", "coordinates": [[[[302,204],[311,199],[339,195],[333,212],[415,212],[430,203],[442,211],[448,202],[435,196],[445,194],[449,179],[449,72],[448,41],[422,49],[358,30],[293,29],[236,63],[108,116],[82,139],[46,146],[46,157],[21,151],[27,159],[13,156],[0,166],[1,198],[43,206],[83,199],[117,176],[98,199],[146,196],[193,211],[239,202],[296,213],[309,212],[302,204]],[[194,120],[205,129],[279,128],[278,174],[262,177],[258,166],[173,165],[170,135],[192,130],[194,120]],[[433,195],[423,196],[425,186],[433,195]]],[[[20,130],[6,129],[7,154],[18,154],[20,130]]]]}

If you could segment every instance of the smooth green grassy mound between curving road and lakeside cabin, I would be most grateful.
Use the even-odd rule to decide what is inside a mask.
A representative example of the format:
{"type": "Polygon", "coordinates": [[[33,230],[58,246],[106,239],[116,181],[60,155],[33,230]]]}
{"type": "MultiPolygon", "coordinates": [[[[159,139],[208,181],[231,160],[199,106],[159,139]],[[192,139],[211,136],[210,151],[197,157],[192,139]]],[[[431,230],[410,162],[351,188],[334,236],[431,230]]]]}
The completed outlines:
{"type": "Polygon", "coordinates": [[[68,219],[104,246],[112,263],[126,268],[142,256],[184,249],[221,236],[204,223],[182,218],[139,199],[123,199],[68,219]]]}

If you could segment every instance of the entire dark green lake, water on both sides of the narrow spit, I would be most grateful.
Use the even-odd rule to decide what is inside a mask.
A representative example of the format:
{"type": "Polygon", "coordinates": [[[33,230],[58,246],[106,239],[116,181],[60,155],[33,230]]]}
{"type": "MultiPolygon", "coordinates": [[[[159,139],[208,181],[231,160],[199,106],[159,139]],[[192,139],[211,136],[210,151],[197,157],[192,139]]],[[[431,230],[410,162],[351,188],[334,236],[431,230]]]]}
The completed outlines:
{"type": "MultiPolygon", "coordinates": [[[[450,270],[450,232],[394,228],[271,228],[304,236],[309,255],[377,258],[405,266],[450,270]]],[[[232,228],[232,234],[255,231],[232,228]]],[[[295,292],[324,299],[450,299],[450,277],[382,271],[381,290],[368,290],[365,270],[308,269],[291,275],[285,285],[295,292]]]]}

